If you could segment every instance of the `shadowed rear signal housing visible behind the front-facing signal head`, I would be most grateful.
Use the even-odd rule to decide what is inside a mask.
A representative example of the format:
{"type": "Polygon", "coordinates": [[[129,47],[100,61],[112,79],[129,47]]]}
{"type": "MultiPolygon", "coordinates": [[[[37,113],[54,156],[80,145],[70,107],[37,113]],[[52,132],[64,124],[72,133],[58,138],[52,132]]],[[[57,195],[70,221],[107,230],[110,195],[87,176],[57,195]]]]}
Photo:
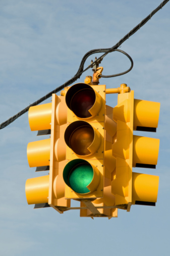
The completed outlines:
{"type": "MultiPolygon", "coordinates": [[[[111,193],[111,180],[116,168],[116,159],[112,156],[112,143],[117,132],[117,123],[112,120],[113,108],[105,106],[104,122],[104,175],[103,175],[103,196],[96,198],[92,204],[100,217],[118,217],[118,209],[115,208],[115,195],[111,193]]],[[[81,202],[81,207],[85,207],[81,202]]],[[[80,217],[95,217],[89,209],[81,209],[80,217]]]]}

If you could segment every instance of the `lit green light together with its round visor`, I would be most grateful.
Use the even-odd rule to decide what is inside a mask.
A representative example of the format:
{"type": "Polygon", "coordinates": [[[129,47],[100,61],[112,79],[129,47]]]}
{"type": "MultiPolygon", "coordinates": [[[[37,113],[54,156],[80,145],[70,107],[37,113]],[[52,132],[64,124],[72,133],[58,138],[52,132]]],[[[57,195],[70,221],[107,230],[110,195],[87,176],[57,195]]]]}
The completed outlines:
{"type": "Polygon", "coordinates": [[[93,175],[92,166],[83,159],[70,161],[63,171],[65,183],[79,194],[90,192],[87,186],[91,183],[93,175]]]}

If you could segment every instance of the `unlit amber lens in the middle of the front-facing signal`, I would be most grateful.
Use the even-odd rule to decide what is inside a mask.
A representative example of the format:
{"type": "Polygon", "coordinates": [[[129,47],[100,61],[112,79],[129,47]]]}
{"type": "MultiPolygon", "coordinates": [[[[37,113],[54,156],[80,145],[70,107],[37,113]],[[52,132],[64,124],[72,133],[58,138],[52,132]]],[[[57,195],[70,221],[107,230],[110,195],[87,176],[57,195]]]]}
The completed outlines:
{"type": "Polygon", "coordinates": [[[94,130],[91,126],[81,126],[73,131],[70,138],[70,147],[79,156],[90,154],[88,147],[94,140],[94,130]]]}

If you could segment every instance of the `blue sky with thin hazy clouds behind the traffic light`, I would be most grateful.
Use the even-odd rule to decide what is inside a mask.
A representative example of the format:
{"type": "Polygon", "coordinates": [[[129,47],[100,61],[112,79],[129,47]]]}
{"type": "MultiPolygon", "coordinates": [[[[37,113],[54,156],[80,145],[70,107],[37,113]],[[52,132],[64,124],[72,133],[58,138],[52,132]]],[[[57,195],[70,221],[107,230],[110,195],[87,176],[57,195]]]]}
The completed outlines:
{"type": "MultiPolygon", "coordinates": [[[[73,77],[86,52],[116,44],[160,3],[1,1],[0,123],[73,77]]],[[[156,134],[140,133],[160,139],[156,170],[134,170],[159,176],[156,207],[132,206],[130,213],[119,210],[119,217],[111,220],[80,218],[79,211],[33,210],[26,201],[25,182],[39,174],[29,168],[26,149],[37,138],[26,113],[1,130],[1,255],[169,255],[169,11],[167,3],[122,44],[134,61],[130,73],[100,79],[106,88],[127,83],[135,98],[161,104],[156,134]]],[[[110,75],[128,69],[130,62],[120,53],[111,53],[102,66],[103,75],[110,75]]],[[[77,82],[91,74],[86,71],[77,82]]],[[[107,95],[106,103],[116,106],[117,95],[107,95]]]]}

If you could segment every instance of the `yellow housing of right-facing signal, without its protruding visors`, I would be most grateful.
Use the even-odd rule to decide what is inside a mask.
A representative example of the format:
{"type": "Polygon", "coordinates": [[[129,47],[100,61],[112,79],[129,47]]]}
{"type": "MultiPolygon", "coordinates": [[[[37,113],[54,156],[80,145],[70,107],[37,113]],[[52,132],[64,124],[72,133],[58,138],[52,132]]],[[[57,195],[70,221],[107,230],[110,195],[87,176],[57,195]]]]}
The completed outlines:
{"type": "Polygon", "coordinates": [[[133,101],[133,91],[121,93],[118,95],[118,105],[113,111],[114,120],[117,122],[117,138],[112,145],[116,170],[111,188],[116,196],[116,205],[127,204],[128,209],[132,204],[133,101]]]}

